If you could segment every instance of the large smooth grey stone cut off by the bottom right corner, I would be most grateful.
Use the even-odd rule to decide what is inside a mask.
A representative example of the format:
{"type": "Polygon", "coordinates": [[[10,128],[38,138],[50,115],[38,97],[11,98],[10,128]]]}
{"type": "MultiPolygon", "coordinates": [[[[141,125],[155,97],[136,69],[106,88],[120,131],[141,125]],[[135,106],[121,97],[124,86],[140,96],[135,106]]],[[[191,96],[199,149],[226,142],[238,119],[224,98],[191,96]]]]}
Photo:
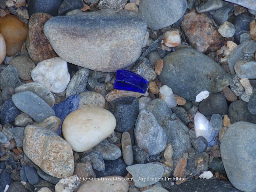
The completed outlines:
{"type": "Polygon", "coordinates": [[[254,162],[254,145],[256,125],[248,122],[232,124],[222,137],[220,144],[221,159],[228,176],[228,180],[237,189],[255,191],[256,164],[247,166],[247,162],[254,162]],[[243,145],[241,145],[243,143],[243,145]],[[235,172],[233,170],[236,170],[235,172]]]}

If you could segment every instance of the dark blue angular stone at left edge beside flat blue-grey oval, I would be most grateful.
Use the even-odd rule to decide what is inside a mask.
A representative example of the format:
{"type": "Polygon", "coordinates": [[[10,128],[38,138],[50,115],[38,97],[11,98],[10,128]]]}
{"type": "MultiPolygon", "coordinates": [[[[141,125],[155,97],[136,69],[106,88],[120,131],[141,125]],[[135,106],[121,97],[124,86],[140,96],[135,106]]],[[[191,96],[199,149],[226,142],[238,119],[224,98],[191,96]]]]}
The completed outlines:
{"type": "Polygon", "coordinates": [[[20,115],[20,110],[14,105],[12,100],[5,101],[1,107],[1,124],[14,121],[17,115],[20,115]]]}

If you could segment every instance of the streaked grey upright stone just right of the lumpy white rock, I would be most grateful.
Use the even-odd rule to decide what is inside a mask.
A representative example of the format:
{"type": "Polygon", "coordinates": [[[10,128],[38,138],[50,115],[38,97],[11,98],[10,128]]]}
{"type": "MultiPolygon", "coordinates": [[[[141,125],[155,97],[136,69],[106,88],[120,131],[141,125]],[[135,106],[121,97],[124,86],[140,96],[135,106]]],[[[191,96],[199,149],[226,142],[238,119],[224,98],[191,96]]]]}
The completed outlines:
{"type": "Polygon", "coordinates": [[[82,68],[75,73],[70,79],[67,89],[66,98],[70,95],[78,95],[86,90],[87,81],[90,75],[90,71],[87,68],[82,68]]]}

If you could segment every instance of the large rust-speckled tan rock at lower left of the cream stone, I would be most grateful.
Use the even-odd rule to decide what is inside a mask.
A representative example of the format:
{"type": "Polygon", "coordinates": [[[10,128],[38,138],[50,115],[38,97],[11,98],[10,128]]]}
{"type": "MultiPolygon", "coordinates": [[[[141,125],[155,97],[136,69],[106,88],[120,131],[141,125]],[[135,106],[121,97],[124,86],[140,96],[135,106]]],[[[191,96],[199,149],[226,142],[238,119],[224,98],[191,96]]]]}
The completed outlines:
{"type": "Polygon", "coordinates": [[[56,133],[28,125],[24,130],[23,151],[45,173],[64,178],[74,172],[73,151],[56,133]]]}

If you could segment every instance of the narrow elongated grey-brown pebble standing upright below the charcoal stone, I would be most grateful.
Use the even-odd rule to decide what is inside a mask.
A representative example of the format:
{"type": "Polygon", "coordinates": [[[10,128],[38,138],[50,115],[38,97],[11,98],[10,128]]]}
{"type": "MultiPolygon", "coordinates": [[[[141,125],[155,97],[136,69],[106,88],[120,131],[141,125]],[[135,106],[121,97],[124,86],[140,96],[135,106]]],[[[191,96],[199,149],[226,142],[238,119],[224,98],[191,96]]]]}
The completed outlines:
{"type": "Polygon", "coordinates": [[[132,153],[131,137],[128,132],[124,132],[122,134],[121,145],[122,145],[122,155],[124,158],[124,163],[130,166],[133,163],[133,153],[132,153]]]}

